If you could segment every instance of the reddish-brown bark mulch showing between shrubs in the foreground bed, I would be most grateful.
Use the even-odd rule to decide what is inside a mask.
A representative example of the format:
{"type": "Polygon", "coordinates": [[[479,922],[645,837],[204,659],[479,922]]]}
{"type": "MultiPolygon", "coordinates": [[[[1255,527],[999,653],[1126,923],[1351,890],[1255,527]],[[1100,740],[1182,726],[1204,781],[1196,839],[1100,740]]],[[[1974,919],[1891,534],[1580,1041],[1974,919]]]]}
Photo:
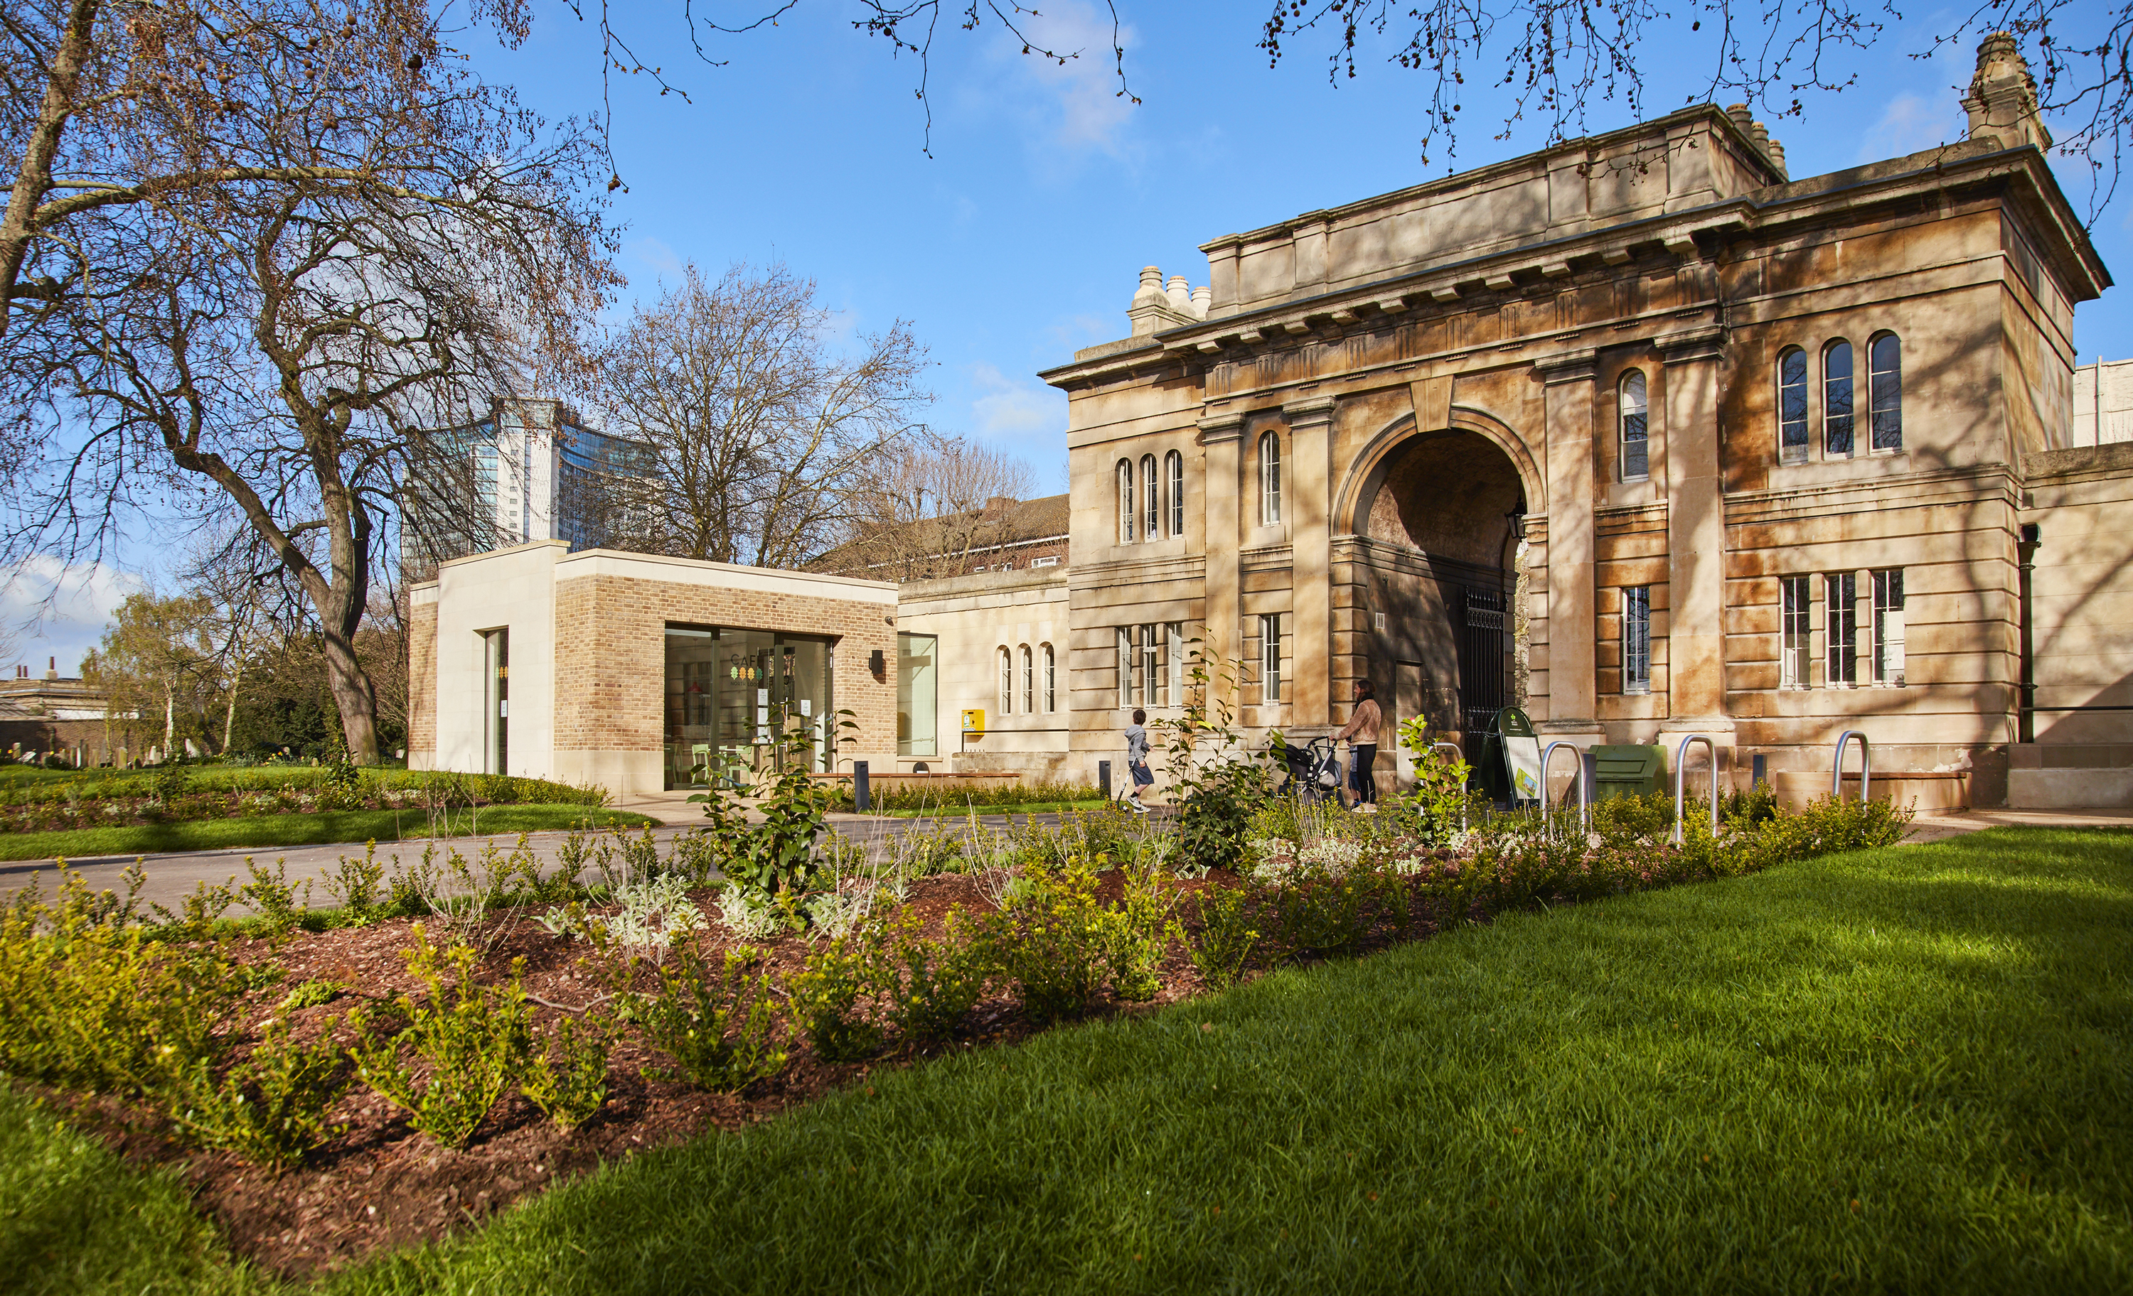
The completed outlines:
{"type": "MultiPolygon", "coordinates": [[[[1177,882],[1184,891],[1203,885],[1177,882]]],[[[1105,874],[1101,895],[1116,902],[1120,889],[1122,878],[1116,872],[1105,874]]],[[[697,902],[708,908],[708,895],[697,895],[697,902]]],[[[921,914],[930,934],[939,936],[951,906],[990,908],[966,876],[913,882],[904,908],[921,914]]],[[[401,957],[401,951],[412,946],[410,925],[405,919],[395,919],[324,934],[294,932],[282,944],[241,942],[239,959],[275,963],[286,972],[275,987],[254,995],[256,1008],[241,1025],[243,1036],[258,1038],[260,1023],[277,1015],[275,1000],[303,981],[331,978],[360,989],[294,1013],[299,1038],[316,1038],[326,1019],[343,1019],[363,1000],[420,991],[420,983],[410,976],[401,957]]],[[[431,929],[435,940],[435,923],[431,929]]],[[[493,942],[480,963],[482,981],[503,981],[512,959],[525,957],[523,985],[531,995],[584,1004],[599,993],[578,968],[584,946],[548,934],[527,914],[493,923],[484,938],[493,942]]],[[[717,925],[704,934],[706,953],[729,944],[738,942],[717,925]]],[[[798,972],[808,951],[808,942],[800,938],[749,944],[770,949],[768,966],[776,976],[798,972]]],[[[1201,989],[1190,959],[1173,944],[1162,968],[1162,993],[1154,1002],[1105,1002],[1092,1013],[1145,1013],[1192,998],[1201,989]]],[[[529,1010],[533,1036],[542,1040],[559,1013],[538,1004],[529,1004],[529,1010]]],[[[339,1034],[348,1036],[348,1030],[341,1027],[339,1034]]],[[[1013,1042],[1028,1034],[1032,1027],[1022,1019],[1017,1004],[996,993],[971,1013],[962,1036],[949,1049],[1013,1042]]],[[[512,1094],[488,1113],[471,1143],[456,1151],[410,1130],[401,1108],[356,1083],[335,1111],[335,1119],[346,1121],[348,1130],[316,1151],[305,1166],[284,1174],[230,1153],[181,1147],[160,1119],[139,1106],[58,1091],[49,1091],[49,1098],[68,1106],[75,1123],[100,1136],[128,1162],[177,1168],[194,1189],[198,1206],[220,1221],[239,1256],[275,1275],[301,1279],[343,1268],[382,1249],[442,1238],[552,1183],[587,1174],[604,1162],[685,1143],[712,1130],[740,1130],[832,1089],[860,1083],[872,1070],[921,1059],[904,1049],[870,1064],[825,1064],[798,1036],[787,1049],[791,1059],[774,1079],[734,1096],[704,1094],[644,1079],[640,1068],[657,1066],[659,1055],[625,1030],[608,1062],[606,1106],[591,1121],[565,1134],[533,1104],[512,1094]]]]}

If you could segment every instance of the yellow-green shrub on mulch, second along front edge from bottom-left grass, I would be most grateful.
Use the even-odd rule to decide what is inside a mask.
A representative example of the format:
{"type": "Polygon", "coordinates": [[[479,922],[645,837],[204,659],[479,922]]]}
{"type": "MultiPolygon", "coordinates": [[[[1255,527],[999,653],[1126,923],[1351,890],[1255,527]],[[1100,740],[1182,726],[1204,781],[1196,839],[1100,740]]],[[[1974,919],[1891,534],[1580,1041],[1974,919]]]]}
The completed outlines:
{"type": "Polygon", "coordinates": [[[523,959],[508,985],[484,987],[474,978],[476,953],[465,944],[437,949],[422,923],[414,925],[407,970],[422,981],[422,998],[397,1000],[407,1025],[371,1036],[371,1021],[352,1013],[360,1040],[350,1049],[356,1074],[382,1098],[410,1113],[407,1123],[446,1147],[465,1147],[488,1108],[518,1081],[527,1059],[523,959]],[[405,1051],[429,1064],[416,1079],[405,1051]]]}

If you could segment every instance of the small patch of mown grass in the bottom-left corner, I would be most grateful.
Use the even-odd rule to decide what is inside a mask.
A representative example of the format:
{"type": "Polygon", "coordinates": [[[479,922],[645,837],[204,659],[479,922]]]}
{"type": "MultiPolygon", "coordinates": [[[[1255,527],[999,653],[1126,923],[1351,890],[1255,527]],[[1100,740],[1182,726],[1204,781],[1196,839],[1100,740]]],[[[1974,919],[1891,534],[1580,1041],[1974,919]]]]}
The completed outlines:
{"type": "Polygon", "coordinates": [[[0,1287],[256,1292],[177,1174],[124,1168],[13,1085],[0,1083],[0,1287]]]}

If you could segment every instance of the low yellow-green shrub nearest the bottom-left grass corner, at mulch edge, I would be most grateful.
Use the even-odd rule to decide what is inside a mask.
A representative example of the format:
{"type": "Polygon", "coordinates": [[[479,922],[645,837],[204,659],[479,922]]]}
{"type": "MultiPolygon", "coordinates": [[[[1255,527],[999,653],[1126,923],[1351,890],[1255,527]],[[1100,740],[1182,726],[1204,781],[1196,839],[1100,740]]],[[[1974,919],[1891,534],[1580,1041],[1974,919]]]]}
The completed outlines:
{"type": "Polygon", "coordinates": [[[171,1121],[196,1143],[275,1170],[303,1162],[341,1132],[326,1119],[350,1085],[335,1025],[326,1021],[316,1040],[299,1044],[286,1019],[269,1021],[220,1081],[211,1059],[177,1059],[173,1051],[158,1083],[171,1121]]]}

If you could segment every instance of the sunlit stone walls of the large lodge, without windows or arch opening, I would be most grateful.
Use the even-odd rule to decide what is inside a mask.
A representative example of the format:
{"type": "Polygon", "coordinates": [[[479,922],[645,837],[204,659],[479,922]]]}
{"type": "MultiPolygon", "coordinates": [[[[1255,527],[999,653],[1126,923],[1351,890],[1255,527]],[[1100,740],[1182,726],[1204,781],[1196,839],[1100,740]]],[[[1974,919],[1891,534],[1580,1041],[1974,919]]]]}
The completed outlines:
{"type": "MultiPolygon", "coordinates": [[[[1677,117],[1736,143],[1715,109],[1677,117]]],[[[1728,190],[1734,181],[1713,173],[1713,188],[1696,190],[1711,200],[1587,196],[1563,222],[1521,196],[1593,147],[1220,239],[1207,245],[1205,322],[1088,347],[1045,373],[1069,396],[1077,750],[1113,744],[1111,627],[1180,612],[1205,616],[1218,652],[1246,659],[1261,614],[1288,620],[1280,706],[1256,706],[1248,665],[1237,701],[1252,729],[1337,725],[1365,676],[1380,701],[1391,682],[1423,706],[1457,627],[1431,586],[1444,578],[1421,573],[1470,544],[1510,552],[1499,505],[1468,497],[1480,477],[1512,473],[1525,539],[1519,558],[1499,561],[1523,563],[1517,669],[1549,735],[1672,748],[1709,733],[1721,767],[1758,755],[1775,772],[1807,772],[1828,767],[1839,731],[1864,729],[1877,772],[1964,772],[1977,804],[2007,795],[2026,463],[2069,435],[2073,303],[2110,281],[2086,243],[2065,239],[2071,211],[2050,171],[2028,145],[1977,139],[1805,181],[1764,175],[1764,188],[1728,190]],[[1450,239],[1444,247],[1397,234],[1425,209],[1442,217],[1429,237],[1450,239]],[[1459,243],[1489,217],[1499,241],[1459,243]],[[1463,260],[1440,256],[1453,243],[1463,260]],[[1883,330],[1903,354],[1898,452],[1871,443],[1869,356],[1883,330]],[[1824,448],[1832,339],[1854,350],[1854,454],[1824,448]],[[1805,463],[1779,456],[1787,345],[1809,356],[1805,463]],[[1647,386],[1642,480],[1623,471],[1619,443],[1632,371],[1647,386]],[[1118,544],[1113,465],[1194,431],[1201,535],[1118,544]],[[1284,454],[1278,524],[1258,518],[1269,431],[1284,454]],[[1453,435],[1470,437],[1465,460],[1399,473],[1401,456],[1421,463],[1418,448],[1453,435]],[[1886,567],[1905,573],[1903,686],[1873,686],[1866,659],[1869,571],[1886,567]],[[1851,689],[1822,678],[1832,571],[1858,573],[1851,689]],[[1785,576],[1813,590],[1807,689],[1779,686],[1785,576]],[[1645,695],[1623,689],[1627,586],[1651,588],[1645,695]]],[[[1651,183],[1674,194],[1674,179],[1651,183]]],[[[2080,507],[2116,518],[2116,497],[2090,495],[2127,471],[2097,471],[2080,507]]],[[[2133,610],[2103,597],[2067,618],[2073,629],[2054,642],[2133,631],[2133,610]]]]}

